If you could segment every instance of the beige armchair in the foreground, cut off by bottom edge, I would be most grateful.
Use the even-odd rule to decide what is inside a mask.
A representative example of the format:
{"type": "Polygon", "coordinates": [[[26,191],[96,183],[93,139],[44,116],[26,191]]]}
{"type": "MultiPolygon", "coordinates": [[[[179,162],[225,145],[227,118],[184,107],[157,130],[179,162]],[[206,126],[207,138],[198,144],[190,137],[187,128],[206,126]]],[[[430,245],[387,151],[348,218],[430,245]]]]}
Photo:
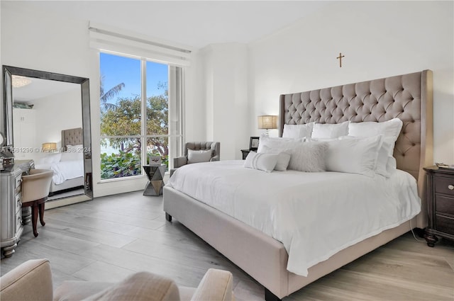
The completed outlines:
{"type": "Polygon", "coordinates": [[[0,300],[191,300],[233,301],[232,274],[210,268],[197,288],[178,287],[169,278],[135,273],[120,283],[65,281],[52,292],[52,272],[47,259],[22,263],[0,279],[0,300]]]}

